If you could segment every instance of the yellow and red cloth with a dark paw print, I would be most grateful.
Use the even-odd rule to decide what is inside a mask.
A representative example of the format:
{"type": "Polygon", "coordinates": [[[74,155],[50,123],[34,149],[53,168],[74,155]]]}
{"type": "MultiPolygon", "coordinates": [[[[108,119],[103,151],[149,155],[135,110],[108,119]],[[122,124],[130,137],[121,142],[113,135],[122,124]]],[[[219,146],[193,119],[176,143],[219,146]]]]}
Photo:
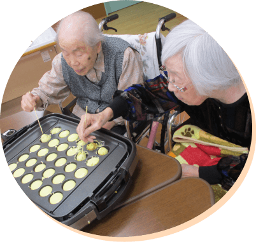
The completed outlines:
{"type": "Polygon", "coordinates": [[[248,154],[248,149],[215,137],[194,125],[184,125],[173,135],[176,142],[169,156],[181,164],[213,166],[224,156],[248,154]]]}

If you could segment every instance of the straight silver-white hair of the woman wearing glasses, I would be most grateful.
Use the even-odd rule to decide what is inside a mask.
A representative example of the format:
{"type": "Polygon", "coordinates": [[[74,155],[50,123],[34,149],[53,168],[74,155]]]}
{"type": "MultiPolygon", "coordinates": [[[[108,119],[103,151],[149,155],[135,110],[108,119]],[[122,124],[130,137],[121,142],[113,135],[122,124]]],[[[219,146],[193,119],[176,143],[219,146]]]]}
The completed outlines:
{"type": "Polygon", "coordinates": [[[192,20],[185,20],[166,36],[162,64],[181,53],[185,74],[199,95],[226,90],[241,83],[236,66],[220,44],[192,20]]]}

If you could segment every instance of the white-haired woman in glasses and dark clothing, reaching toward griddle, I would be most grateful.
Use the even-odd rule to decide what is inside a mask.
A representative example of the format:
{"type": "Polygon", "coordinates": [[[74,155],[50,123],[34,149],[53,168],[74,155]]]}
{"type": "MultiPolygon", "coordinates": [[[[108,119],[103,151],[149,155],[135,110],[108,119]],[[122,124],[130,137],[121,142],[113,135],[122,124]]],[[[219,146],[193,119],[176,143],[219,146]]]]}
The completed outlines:
{"type": "MultiPolygon", "coordinates": [[[[103,112],[88,115],[87,126],[80,123],[77,128],[80,138],[90,140],[92,131],[113,118],[146,120],[178,104],[192,118],[192,124],[250,148],[252,116],[245,86],[232,60],[208,32],[191,20],[174,27],[162,49],[162,64],[166,69],[160,71],[160,76],[116,91],[103,112]]],[[[243,164],[245,160],[243,156],[243,164]]],[[[183,177],[223,183],[217,165],[181,166],[183,177]]]]}

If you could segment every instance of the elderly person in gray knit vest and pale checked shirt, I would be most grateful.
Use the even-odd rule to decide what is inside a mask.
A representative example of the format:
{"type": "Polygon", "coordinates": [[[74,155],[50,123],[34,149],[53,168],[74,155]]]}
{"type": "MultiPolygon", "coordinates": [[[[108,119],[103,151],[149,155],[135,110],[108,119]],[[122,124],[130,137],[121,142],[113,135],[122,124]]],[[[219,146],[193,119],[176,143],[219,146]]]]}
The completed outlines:
{"type": "MultiPolygon", "coordinates": [[[[61,53],[52,61],[52,70],[39,80],[38,88],[22,97],[27,112],[45,110],[63,102],[70,93],[77,97],[71,116],[81,118],[103,111],[116,90],[143,82],[139,52],[127,41],[103,36],[96,20],[85,11],[76,11],[59,23],[56,42],[61,53]]],[[[106,122],[104,128],[125,133],[122,117],[106,122]]]]}

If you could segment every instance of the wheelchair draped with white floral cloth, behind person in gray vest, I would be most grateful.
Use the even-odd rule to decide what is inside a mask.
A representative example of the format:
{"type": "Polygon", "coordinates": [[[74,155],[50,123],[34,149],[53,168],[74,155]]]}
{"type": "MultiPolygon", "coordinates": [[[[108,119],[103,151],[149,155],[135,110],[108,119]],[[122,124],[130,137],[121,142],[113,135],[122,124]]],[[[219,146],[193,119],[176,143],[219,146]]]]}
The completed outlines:
{"type": "MultiPolygon", "coordinates": [[[[136,50],[139,51],[141,58],[143,60],[143,72],[144,72],[144,81],[147,79],[153,79],[156,76],[160,75],[159,68],[162,66],[161,63],[161,51],[162,46],[164,44],[165,37],[160,33],[160,31],[170,31],[165,26],[166,22],[169,22],[173,18],[176,17],[176,13],[171,13],[169,15],[166,15],[165,17],[159,18],[159,23],[157,24],[157,28],[155,32],[152,33],[146,33],[144,35],[129,35],[129,34],[122,34],[122,35],[109,35],[104,34],[104,36],[110,36],[110,37],[120,37],[127,41],[129,44],[131,44],[132,47],[136,48],[136,50]],[[147,41],[146,41],[147,39],[147,41]],[[146,51],[146,44],[148,43],[151,45],[151,50],[146,51]]],[[[99,24],[99,29],[101,31],[103,30],[109,30],[113,29],[115,32],[117,32],[117,29],[114,29],[112,27],[108,27],[108,23],[116,20],[118,18],[118,15],[111,15],[110,17],[103,18],[99,24]]],[[[62,104],[59,104],[60,111],[62,114],[70,116],[73,107],[76,105],[75,98],[70,104],[68,104],[66,107],[62,107],[62,104]]],[[[181,110],[179,109],[179,106],[177,105],[174,107],[173,110],[167,111],[165,114],[163,114],[160,117],[151,119],[149,121],[143,121],[143,122],[131,122],[125,120],[125,128],[127,133],[127,138],[132,140],[135,144],[139,144],[143,138],[148,138],[150,142],[153,142],[153,146],[150,147],[150,149],[153,149],[155,151],[162,152],[164,154],[167,154],[167,152],[171,151],[173,147],[173,140],[172,140],[172,134],[174,133],[174,129],[177,128],[177,126],[182,123],[183,121],[180,121],[180,114],[181,110]],[[152,130],[152,124],[153,123],[162,124],[161,129],[161,135],[160,135],[160,144],[159,142],[155,141],[155,130],[152,130]],[[154,133],[152,135],[152,133],[154,133]],[[167,149],[165,148],[167,145],[167,149]],[[166,150],[165,150],[166,149],[166,150]]]]}

